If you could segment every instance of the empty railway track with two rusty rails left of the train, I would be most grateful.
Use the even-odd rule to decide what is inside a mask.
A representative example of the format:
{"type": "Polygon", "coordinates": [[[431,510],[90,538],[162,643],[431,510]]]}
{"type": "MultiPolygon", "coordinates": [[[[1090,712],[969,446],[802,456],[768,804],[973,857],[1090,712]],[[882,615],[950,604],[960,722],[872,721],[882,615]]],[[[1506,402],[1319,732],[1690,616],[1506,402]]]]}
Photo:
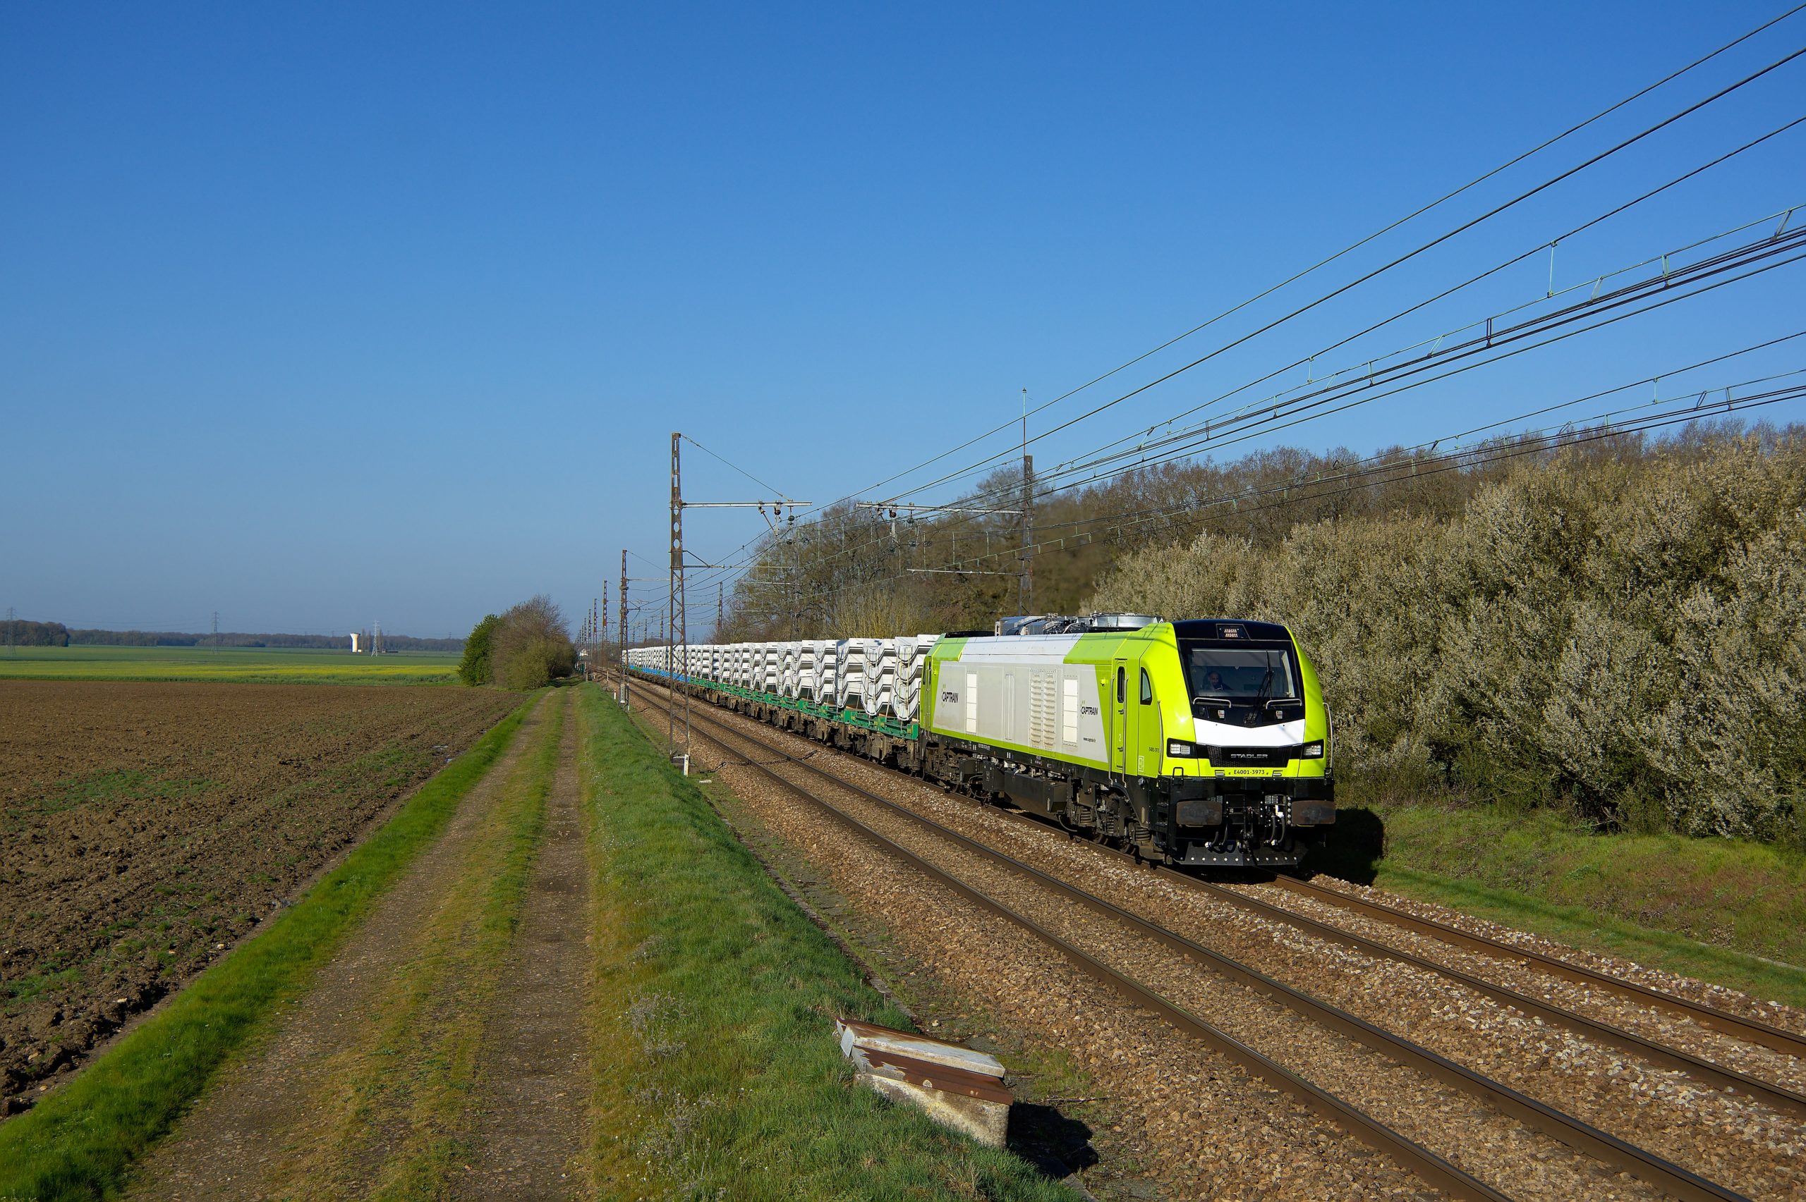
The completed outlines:
{"type": "MultiPolygon", "coordinates": [[[[659,689],[661,691],[661,689],[659,689]]],[[[645,700],[641,700],[645,706],[645,700]]],[[[1613,1170],[1629,1173],[1642,1182],[1660,1189],[1662,1193],[1676,1198],[1737,1198],[1743,1197],[1732,1189],[1707,1180],[1652,1151],[1638,1148],[1606,1130],[1600,1130],[1584,1119],[1559,1110],[1544,1101],[1530,1097],[1510,1085],[1490,1079],[1468,1067],[1463,1067],[1434,1050],[1420,1047],[1418,1043],[1389,1032],[1374,1023],[1369,1023],[1344,1009],[1326,1003],[1308,993],[1286,985],[1284,982],[1261,973],[1259,969],[1237,962],[1215,949],[1205,948],[1203,944],[1187,938],[1185,935],[1172,931],[1165,926],[1150,922],[1136,913],[1131,913],[1094,893],[1089,893],[1067,881],[1029,865],[1019,857],[1008,855],[993,846],[988,846],[977,839],[972,839],[957,830],[952,830],[941,823],[936,823],[923,814],[914,812],[910,807],[899,805],[889,798],[881,798],[876,792],[849,781],[834,772],[822,769],[816,763],[802,760],[798,756],[787,754],[782,747],[775,747],[764,738],[755,738],[735,726],[721,722],[712,717],[706,709],[694,709],[692,720],[703,727],[704,738],[719,745],[737,760],[744,762],[746,767],[757,771],[773,785],[780,787],[791,796],[796,796],[815,807],[818,812],[829,819],[840,823],[842,827],[858,834],[869,845],[880,848],[883,854],[899,859],[912,868],[930,875],[946,888],[954,890],[961,897],[972,901],[977,906],[997,913],[1008,922],[1022,928],[1033,938],[1047,944],[1060,951],[1071,964],[1080,967],[1080,971],[1091,975],[1093,978],[1107,984],[1118,994],[1140,1005],[1154,1014],[1159,1014],[1165,1022],[1179,1031],[1201,1040],[1206,1047],[1217,1050],[1228,1059],[1241,1065],[1252,1076],[1262,1077],[1279,1088],[1286,1090],[1308,1108],[1318,1115],[1342,1124],[1345,1130],[1354,1133],[1362,1142],[1385,1151],[1394,1157],[1400,1164],[1407,1166],[1412,1173],[1429,1184],[1450,1193],[1452,1197],[1463,1198],[1504,1198],[1512,1197],[1503,1193],[1497,1186],[1488,1184],[1476,1177],[1474,1173],[1463,1170],[1461,1166],[1450,1162],[1447,1157],[1425,1148],[1421,1142],[1400,1133],[1387,1123],[1373,1117],[1360,1105],[1342,1097],[1322,1085],[1317,1085],[1273,1056],[1261,1052],[1252,1047],[1246,1040],[1237,1038],[1230,1031],[1214,1025],[1196,1012],[1197,1007],[1187,1007],[1174,1002],[1170,996],[1159,989],[1138,980],[1134,975],[1123,971],[1120,966],[1107,964],[1100,955],[1085,951],[1073,938],[1051,929],[1053,924],[1046,920],[1037,920],[1031,913],[1024,910],[1020,901],[1011,904],[1011,901],[999,897],[999,893],[1013,893],[1022,897],[1022,886],[991,886],[982,888],[975,877],[979,874],[972,872],[975,863],[984,863],[995,870],[1008,874],[1017,883],[1033,883],[1033,888],[1042,890],[1057,897],[1062,904],[1076,902],[1084,906],[1091,915],[1103,919],[1116,928],[1132,931],[1136,938],[1158,944],[1167,953],[1183,957],[1190,966],[1205,966],[1215,976],[1233,982],[1244,989],[1253,991],[1266,1002],[1284,1007],[1291,1014],[1304,1022],[1315,1023],[1324,1031],[1333,1031],[1335,1034],[1367,1049],[1371,1054],[1385,1058],[1387,1061],[1405,1065],[1410,1070],[1423,1074],[1436,1083],[1459,1090],[1470,1099],[1479,1101],[1497,1115],[1506,1115],[1508,1119],[1522,1124],[1524,1128],[1542,1132],[1568,1144],[1578,1153],[1598,1160],[1600,1164],[1611,1166],[1613,1170]],[[753,749],[748,753],[748,749],[753,749]],[[771,758],[766,762],[766,758],[771,758]],[[795,774],[805,772],[811,785],[800,783],[795,774]],[[968,870],[964,874],[955,874],[945,866],[948,857],[945,852],[937,854],[936,859],[943,863],[934,863],[925,854],[926,848],[916,846],[914,850],[896,837],[896,832],[885,834],[878,830],[874,821],[860,819],[849,812],[845,803],[836,805],[829,798],[822,796],[820,785],[827,791],[840,791],[847,798],[854,798],[852,809],[858,807],[876,807],[880,814],[878,825],[887,825],[890,821],[901,819],[908,828],[919,836],[926,836],[930,843],[939,845],[939,848],[950,848],[952,857],[957,861],[964,859],[968,870]]],[[[988,814],[1008,816],[1013,819],[1024,819],[1004,810],[986,810],[988,814]]],[[[1035,823],[1040,830],[1040,827],[1035,823]]],[[[1181,874],[1167,874],[1179,881],[1192,883],[1192,877],[1183,877],[1181,874]]],[[[1208,883],[1197,883],[1208,886],[1208,883]]],[[[1221,886],[1208,886],[1212,890],[1221,886]]],[[[1233,892],[1230,892],[1233,893],[1233,892]]],[[[1255,899],[1235,895],[1241,902],[1252,902],[1255,906],[1266,906],[1266,902],[1257,902],[1255,899]]],[[[1067,906],[1069,908],[1069,906],[1067,906]]],[[[1243,908],[1248,908],[1246,904],[1243,908]]],[[[1271,908],[1284,920],[1291,922],[1297,915],[1284,911],[1280,908],[1271,908]]],[[[1331,928],[1335,929],[1335,928],[1331,928]]],[[[1347,931],[1336,931],[1336,938],[1347,944],[1349,938],[1360,938],[1347,931]]],[[[1385,949],[1385,955],[1398,958],[1396,949],[1385,949]]],[[[1196,973],[1196,967],[1192,969],[1196,973]]],[[[1689,1061],[1690,1063],[1690,1061],[1689,1061]]],[[[1716,1070],[1714,1067],[1705,1067],[1707,1070],[1716,1070]]],[[[1736,1085],[1723,1085],[1721,1088],[1745,1088],[1743,1081],[1736,1085]]],[[[1773,1086],[1772,1086],[1773,1088],[1773,1086]]],[[[1755,1090],[1750,1090],[1755,1094],[1755,1090]]],[[[1781,1090],[1784,1094],[1784,1090],[1781,1090]]],[[[1781,1101],[1786,1101],[1783,1097],[1781,1101]]],[[[1477,1168],[1477,1166],[1476,1166],[1477,1168]]]]}

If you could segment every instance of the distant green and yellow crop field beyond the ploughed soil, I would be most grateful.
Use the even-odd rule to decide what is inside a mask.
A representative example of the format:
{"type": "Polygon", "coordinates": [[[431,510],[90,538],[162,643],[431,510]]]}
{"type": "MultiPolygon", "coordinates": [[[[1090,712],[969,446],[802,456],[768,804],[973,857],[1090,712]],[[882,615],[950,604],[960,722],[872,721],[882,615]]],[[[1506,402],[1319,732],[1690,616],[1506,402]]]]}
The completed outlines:
{"type": "Polygon", "coordinates": [[[450,652],[352,655],[269,646],[18,646],[0,652],[0,680],[213,680],[253,684],[442,684],[450,652]]]}

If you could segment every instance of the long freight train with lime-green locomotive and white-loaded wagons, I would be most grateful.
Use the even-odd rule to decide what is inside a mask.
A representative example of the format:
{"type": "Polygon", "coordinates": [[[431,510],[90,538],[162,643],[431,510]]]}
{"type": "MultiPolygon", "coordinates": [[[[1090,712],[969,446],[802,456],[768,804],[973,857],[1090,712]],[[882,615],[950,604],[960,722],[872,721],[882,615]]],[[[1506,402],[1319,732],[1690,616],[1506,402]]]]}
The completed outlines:
{"type": "Polygon", "coordinates": [[[625,661],[1161,863],[1295,865],[1336,818],[1329,709],[1277,623],[1031,617],[995,632],[643,646],[625,661]]]}

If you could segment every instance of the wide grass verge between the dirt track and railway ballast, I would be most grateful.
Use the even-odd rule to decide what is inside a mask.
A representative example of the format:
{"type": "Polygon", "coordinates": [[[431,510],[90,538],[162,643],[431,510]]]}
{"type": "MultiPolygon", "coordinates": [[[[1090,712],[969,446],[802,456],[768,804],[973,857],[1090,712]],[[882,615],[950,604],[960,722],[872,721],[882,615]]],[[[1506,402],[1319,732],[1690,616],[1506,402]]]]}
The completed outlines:
{"type": "Polygon", "coordinates": [[[856,1088],[838,1014],[872,991],[596,686],[578,697],[598,870],[603,1197],[1073,1198],[1026,1160],[856,1088]]]}

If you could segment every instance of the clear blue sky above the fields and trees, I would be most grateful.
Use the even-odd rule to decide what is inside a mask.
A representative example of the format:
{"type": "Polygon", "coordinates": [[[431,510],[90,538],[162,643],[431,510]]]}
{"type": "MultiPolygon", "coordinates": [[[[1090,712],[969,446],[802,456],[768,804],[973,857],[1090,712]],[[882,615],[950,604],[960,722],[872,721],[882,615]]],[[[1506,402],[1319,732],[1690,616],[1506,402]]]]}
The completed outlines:
{"type": "MultiPolygon", "coordinates": [[[[789,496],[863,489],[1786,7],[0,7],[0,608],[444,635],[549,592],[574,617],[623,547],[663,563],[672,430],[789,496]]],[[[1802,45],[1806,13],[1031,433],[1802,45]]],[[[1806,58],[1037,462],[1802,112],[1806,58]]],[[[1557,287],[1802,202],[1802,168],[1806,126],[1564,242],[1557,287]]],[[[1548,271],[1535,258],[1329,359],[1542,296],[1548,271]]],[[[1279,440],[1416,442],[1790,334],[1802,283],[1806,264],[1781,267],[1279,440]]],[[[1802,345],[1674,388],[1806,366],[1802,345]]],[[[692,498],[760,491],[688,451],[692,498]]],[[[757,529],[692,513],[690,541],[728,554],[757,529]]]]}

